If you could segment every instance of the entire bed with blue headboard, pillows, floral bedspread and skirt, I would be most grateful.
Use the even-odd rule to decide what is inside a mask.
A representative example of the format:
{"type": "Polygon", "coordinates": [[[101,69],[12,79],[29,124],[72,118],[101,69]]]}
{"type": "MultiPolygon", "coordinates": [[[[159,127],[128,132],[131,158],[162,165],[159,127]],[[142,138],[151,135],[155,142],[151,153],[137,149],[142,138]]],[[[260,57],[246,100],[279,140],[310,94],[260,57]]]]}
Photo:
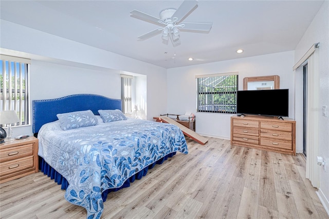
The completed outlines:
{"type": "Polygon", "coordinates": [[[176,152],[188,153],[177,126],[126,118],[118,99],[77,94],[32,103],[39,167],[87,218],[100,218],[108,192],[129,187],[176,152]]]}

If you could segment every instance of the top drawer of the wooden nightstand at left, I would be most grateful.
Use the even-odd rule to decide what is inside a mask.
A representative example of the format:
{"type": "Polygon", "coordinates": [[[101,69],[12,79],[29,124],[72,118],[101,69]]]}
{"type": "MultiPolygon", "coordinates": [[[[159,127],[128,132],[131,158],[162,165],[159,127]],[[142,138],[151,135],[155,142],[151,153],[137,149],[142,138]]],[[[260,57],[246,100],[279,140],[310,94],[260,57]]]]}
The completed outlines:
{"type": "Polygon", "coordinates": [[[2,162],[33,154],[33,144],[24,144],[14,148],[0,150],[2,162]]]}

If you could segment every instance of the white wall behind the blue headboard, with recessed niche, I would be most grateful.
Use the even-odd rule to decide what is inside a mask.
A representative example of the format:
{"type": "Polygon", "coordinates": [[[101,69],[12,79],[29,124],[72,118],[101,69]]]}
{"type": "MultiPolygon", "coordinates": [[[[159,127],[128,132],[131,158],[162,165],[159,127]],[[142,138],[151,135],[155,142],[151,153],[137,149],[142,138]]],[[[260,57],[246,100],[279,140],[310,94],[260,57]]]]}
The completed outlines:
{"type": "MultiPolygon", "coordinates": [[[[31,58],[30,100],[72,93],[120,98],[120,71],[147,77],[147,119],[167,109],[167,69],[1,20],[1,52],[31,58]],[[53,64],[56,63],[56,64],[53,64]],[[59,79],[58,76],[63,76],[59,79]],[[100,80],[97,80],[100,79],[100,80]],[[160,101],[159,101],[160,100],[160,101]]],[[[110,43],[110,42],[109,42],[110,43]]],[[[145,83],[146,84],[146,83],[145,83]]],[[[32,127],[14,127],[14,135],[32,127]]]]}

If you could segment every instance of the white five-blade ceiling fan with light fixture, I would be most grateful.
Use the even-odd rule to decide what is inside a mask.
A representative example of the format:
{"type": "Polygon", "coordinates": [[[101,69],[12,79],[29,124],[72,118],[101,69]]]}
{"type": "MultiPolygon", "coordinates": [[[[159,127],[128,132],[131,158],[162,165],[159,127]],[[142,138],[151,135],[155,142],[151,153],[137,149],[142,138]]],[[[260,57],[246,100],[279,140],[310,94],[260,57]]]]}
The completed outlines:
{"type": "Polygon", "coordinates": [[[162,33],[162,42],[168,44],[169,39],[173,46],[180,45],[179,31],[209,33],[212,23],[183,22],[197,8],[197,0],[185,0],[178,9],[167,8],[160,12],[160,18],[141,11],[131,11],[132,17],[150,22],[161,27],[138,36],[139,41],[147,40],[162,33]]]}

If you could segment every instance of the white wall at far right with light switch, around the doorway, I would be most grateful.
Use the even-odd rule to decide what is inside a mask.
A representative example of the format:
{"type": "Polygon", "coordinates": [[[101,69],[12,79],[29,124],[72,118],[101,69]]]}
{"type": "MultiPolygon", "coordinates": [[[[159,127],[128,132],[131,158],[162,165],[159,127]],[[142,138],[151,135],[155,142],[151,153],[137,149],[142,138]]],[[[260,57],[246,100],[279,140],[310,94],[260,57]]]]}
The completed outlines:
{"type": "MultiPolygon", "coordinates": [[[[297,62],[303,54],[314,43],[320,42],[320,47],[316,50],[317,57],[319,58],[319,106],[314,110],[319,116],[319,155],[326,160],[326,171],[322,167],[320,169],[320,188],[319,194],[322,198],[322,204],[329,214],[329,115],[328,117],[322,116],[322,105],[329,107],[329,2],[324,1],[314,20],[306,30],[303,38],[298,43],[295,50],[295,62],[297,62]]],[[[296,70],[296,90],[302,90],[302,69],[296,70]]],[[[302,109],[296,107],[296,115],[302,115],[302,109]]],[[[328,109],[327,109],[328,111],[328,109]]],[[[327,112],[329,114],[329,112],[327,112]]],[[[299,124],[302,125],[302,124],[299,124]]],[[[302,128],[301,128],[302,129],[302,128]]],[[[298,136],[299,138],[302,135],[298,136]]]]}

